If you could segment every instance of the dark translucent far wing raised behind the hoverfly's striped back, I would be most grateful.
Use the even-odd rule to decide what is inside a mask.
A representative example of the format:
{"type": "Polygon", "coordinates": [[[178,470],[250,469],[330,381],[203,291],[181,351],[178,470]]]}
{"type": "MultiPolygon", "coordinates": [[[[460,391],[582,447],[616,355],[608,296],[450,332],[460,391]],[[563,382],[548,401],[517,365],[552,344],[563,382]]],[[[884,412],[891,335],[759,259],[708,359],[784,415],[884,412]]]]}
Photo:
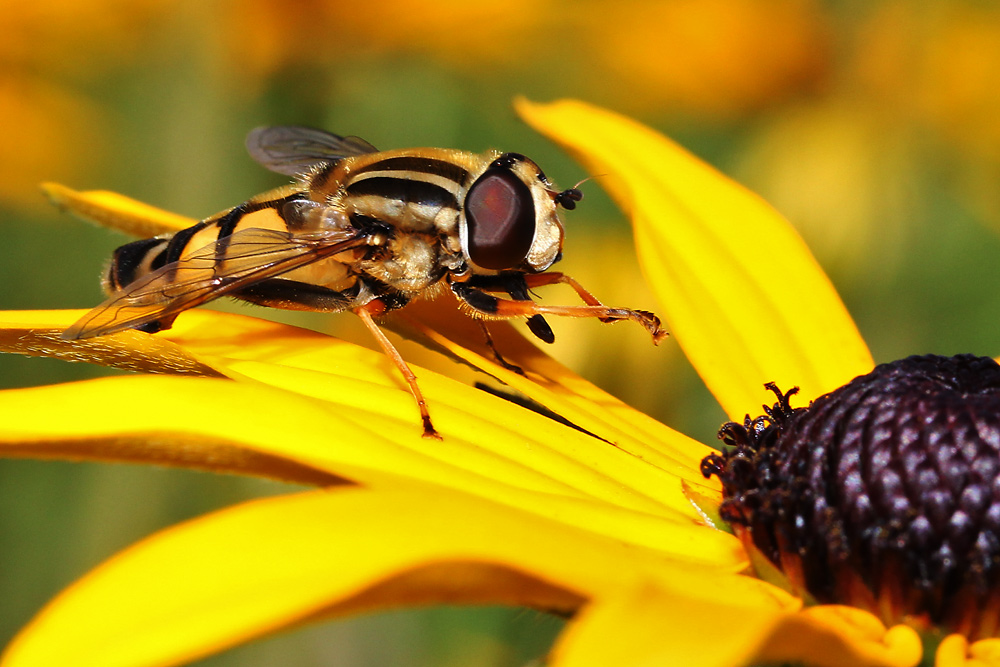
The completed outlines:
{"type": "Polygon", "coordinates": [[[250,157],[271,171],[300,176],[317,165],[378,149],[359,137],[341,137],[298,125],[258,127],[247,135],[250,157]]]}

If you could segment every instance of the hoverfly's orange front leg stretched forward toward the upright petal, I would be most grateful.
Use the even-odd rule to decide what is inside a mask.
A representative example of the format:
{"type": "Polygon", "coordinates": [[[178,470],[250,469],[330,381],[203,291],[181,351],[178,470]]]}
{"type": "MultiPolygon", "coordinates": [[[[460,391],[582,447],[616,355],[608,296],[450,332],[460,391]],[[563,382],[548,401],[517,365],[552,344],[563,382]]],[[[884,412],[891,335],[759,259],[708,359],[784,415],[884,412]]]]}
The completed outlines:
{"type": "MultiPolygon", "coordinates": [[[[554,282],[563,281],[557,279],[554,282]]],[[[455,295],[469,307],[487,317],[506,319],[535,315],[560,315],[562,317],[596,317],[602,322],[632,320],[642,325],[650,333],[653,337],[653,343],[659,343],[667,336],[667,332],[660,328],[660,319],[653,313],[628,308],[609,308],[589,293],[590,299],[596,303],[587,303],[585,306],[546,306],[534,301],[502,299],[463,283],[452,283],[451,288],[455,295]]]]}

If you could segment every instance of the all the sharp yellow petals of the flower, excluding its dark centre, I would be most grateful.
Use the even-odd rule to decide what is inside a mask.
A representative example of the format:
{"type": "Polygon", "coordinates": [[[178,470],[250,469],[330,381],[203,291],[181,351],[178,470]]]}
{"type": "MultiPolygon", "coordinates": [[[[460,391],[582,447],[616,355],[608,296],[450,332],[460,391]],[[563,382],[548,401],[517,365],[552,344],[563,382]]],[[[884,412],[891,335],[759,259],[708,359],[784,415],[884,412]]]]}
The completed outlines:
{"type": "MultiPolygon", "coordinates": [[[[678,342],[730,415],[759,405],[765,381],[799,385],[810,400],[871,370],[832,285],[762,200],[609,112],[576,102],[519,110],[609,174],[678,342]]],[[[184,223],[109,193],[57,194],[124,228],[184,223]]],[[[325,488],[238,505],[127,549],[51,602],[0,664],[174,665],[310,620],[443,602],[574,614],[553,667],[921,660],[906,625],[805,607],[740,574],[747,553],[706,512],[719,502],[699,471],[710,448],[505,329],[500,344],[527,376],[511,373],[469,342],[466,318],[440,307],[412,315],[434,343],[583,430],[418,369],[444,435],[428,443],[380,355],[260,320],[188,312],[156,336],[69,343],[58,334],[77,312],[6,313],[5,350],[196,377],[3,392],[0,452],[325,488]],[[109,418],[95,405],[118,409],[109,418]]],[[[996,664],[998,642],[954,635],[936,662],[996,664]]]]}

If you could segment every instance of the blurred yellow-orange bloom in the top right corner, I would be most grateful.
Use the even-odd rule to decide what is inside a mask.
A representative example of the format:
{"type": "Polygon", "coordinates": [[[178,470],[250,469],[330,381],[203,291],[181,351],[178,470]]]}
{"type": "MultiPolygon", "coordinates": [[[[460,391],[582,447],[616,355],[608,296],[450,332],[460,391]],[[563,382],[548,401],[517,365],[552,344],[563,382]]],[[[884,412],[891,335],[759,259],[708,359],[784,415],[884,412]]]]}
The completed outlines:
{"type": "Polygon", "coordinates": [[[991,3],[890,1],[874,7],[856,31],[841,96],[856,96],[873,130],[889,137],[873,153],[894,152],[891,144],[901,140],[929,152],[935,164],[948,165],[943,174],[963,203],[978,207],[996,228],[1000,9],[991,3]]]}

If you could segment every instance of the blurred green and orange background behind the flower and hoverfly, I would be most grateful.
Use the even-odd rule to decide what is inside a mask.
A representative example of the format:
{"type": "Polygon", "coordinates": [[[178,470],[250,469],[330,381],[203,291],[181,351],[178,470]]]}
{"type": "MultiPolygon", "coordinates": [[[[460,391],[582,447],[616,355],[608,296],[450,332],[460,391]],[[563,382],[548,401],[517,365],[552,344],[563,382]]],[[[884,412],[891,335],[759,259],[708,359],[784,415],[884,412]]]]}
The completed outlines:
{"type": "MultiPolygon", "coordinates": [[[[568,187],[586,174],[510,102],[570,96],[661,129],[777,206],[878,361],[1000,353],[1000,9],[991,2],[34,0],[0,4],[0,34],[0,308],[95,305],[106,258],[126,240],[50,208],[41,181],[203,217],[281,183],[245,155],[243,137],[296,123],[386,148],[518,151],[568,187]]],[[[560,268],[607,303],[655,310],[627,222],[599,179],[584,187],[560,268]]],[[[775,286],[786,279],[775,275],[775,286]]],[[[559,289],[548,298],[569,299],[559,289]]],[[[349,320],[295,321],[370,344],[349,320]]],[[[627,325],[554,325],[555,356],[714,441],[723,415],[675,344],[654,348],[627,325]]],[[[0,355],[3,387],[105,372],[0,355]]],[[[94,409],[113,419],[116,408],[94,409]]],[[[153,530],[286,490],[0,461],[0,641],[153,530]]],[[[524,610],[406,611],[199,664],[513,667],[541,656],[559,625],[524,610]]]]}

